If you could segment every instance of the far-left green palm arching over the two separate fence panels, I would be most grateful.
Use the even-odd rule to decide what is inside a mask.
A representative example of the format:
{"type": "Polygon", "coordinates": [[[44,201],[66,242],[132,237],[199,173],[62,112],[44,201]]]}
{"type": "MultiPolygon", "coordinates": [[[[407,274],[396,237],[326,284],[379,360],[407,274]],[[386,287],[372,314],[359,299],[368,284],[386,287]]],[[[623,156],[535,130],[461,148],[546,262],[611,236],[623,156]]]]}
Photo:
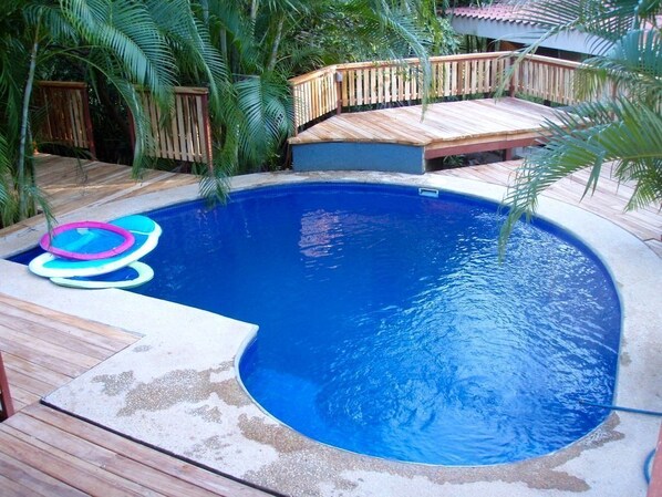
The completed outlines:
{"type": "Polygon", "coordinates": [[[34,82],[55,61],[103,76],[136,123],[134,169],[143,165],[148,122],[138,89],[167,107],[183,70],[210,86],[211,105],[228,80],[225,66],[186,0],[8,0],[0,18],[0,214],[2,226],[46,200],[34,183],[30,104],[34,82]],[[187,61],[176,64],[176,60],[187,61]],[[177,70],[179,68],[179,71],[177,70]]]}

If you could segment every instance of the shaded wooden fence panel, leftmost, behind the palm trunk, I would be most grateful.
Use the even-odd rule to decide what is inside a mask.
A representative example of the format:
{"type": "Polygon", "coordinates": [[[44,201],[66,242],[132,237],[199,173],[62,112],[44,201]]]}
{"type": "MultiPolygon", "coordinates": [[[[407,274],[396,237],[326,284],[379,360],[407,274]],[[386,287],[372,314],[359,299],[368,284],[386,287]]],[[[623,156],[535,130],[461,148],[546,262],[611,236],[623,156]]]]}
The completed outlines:
{"type": "Polygon", "coordinates": [[[37,102],[45,114],[38,115],[37,138],[43,143],[86,148],[94,157],[94,135],[85,83],[40,81],[37,102]]]}

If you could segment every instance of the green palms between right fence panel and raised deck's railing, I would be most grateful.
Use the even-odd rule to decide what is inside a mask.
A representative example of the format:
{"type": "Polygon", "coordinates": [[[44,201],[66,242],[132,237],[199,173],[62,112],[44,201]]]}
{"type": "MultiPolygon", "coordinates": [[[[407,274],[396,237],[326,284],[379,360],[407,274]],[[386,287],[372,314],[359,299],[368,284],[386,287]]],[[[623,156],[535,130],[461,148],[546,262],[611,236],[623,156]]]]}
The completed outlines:
{"type": "Polygon", "coordinates": [[[207,0],[200,8],[232,73],[237,101],[220,128],[237,145],[239,172],[283,165],[289,77],[352,60],[425,59],[452,40],[431,0],[207,0]]]}

